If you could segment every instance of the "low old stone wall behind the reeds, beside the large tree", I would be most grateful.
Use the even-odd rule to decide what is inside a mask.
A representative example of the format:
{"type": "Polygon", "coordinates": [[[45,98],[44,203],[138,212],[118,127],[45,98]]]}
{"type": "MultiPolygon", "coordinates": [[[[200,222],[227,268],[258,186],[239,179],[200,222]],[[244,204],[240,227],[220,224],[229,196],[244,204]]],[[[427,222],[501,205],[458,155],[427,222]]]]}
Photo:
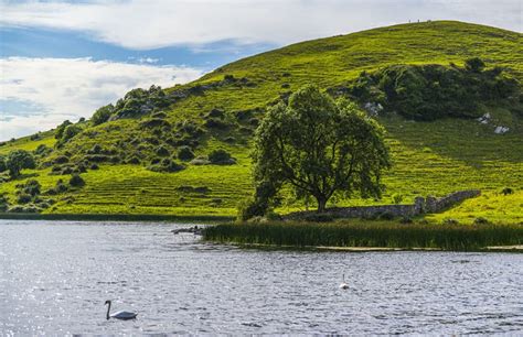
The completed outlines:
{"type": "MultiPolygon", "coordinates": [[[[424,213],[438,213],[445,210],[465,199],[481,195],[479,189],[468,189],[451,193],[442,198],[428,196],[416,197],[412,205],[380,205],[380,206],[356,206],[356,207],[334,207],[329,208],[325,216],[332,218],[373,218],[383,214],[394,217],[412,217],[424,213]]],[[[286,215],[285,219],[302,219],[314,215],[316,211],[296,211],[286,215]]]]}

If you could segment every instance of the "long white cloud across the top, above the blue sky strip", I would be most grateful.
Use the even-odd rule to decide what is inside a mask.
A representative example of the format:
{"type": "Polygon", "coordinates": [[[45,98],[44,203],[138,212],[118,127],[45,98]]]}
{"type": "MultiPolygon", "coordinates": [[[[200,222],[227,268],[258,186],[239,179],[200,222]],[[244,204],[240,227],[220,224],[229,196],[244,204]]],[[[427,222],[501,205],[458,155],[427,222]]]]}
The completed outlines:
{"type": "Polygon", "coordinates": [[[286,44],[418,19],[522,31],[521,0],[9,1],[0,9],[1,25],[77,30],[141,50],[221,40],[286,44]]]}

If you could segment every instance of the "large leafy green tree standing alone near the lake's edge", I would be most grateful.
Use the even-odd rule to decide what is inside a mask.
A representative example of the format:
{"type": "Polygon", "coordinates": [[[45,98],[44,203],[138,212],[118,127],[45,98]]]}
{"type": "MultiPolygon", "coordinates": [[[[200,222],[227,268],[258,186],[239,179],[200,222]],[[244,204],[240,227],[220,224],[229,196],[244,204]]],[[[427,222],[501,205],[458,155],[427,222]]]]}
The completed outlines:
{"type": "MultiPolygon", "coordinates": [[[[276,193],[288,184],[297,195],[314,197],[319,213],[337,193],[380,197],[382,171],[391,165],[383,128],[356,105],[334,101],[314,86],[267,111],[253,160],[258,187],[276,193]]],[[[264,198],[258,203],[266,205],[264,198]]]]}

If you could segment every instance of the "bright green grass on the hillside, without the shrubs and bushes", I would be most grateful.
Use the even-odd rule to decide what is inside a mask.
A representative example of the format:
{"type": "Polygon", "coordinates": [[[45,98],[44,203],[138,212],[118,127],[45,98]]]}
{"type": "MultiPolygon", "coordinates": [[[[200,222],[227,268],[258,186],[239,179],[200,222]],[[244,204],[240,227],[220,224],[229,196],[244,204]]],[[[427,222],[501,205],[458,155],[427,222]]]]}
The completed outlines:
{"type": "MultiPolygon", "coordinates": [[[[220,86],[203,95],[192,95],[169,108],[167,119],[175,124],[193,120],[202,124],[202,116],[213,108],[223,109],[234,119],[238,110],[263,108],[280,94],[301,85],[316,83],[329,88],[354,79],[361,70],[374,70],[391,64],[462,64],[471,56],[482,57],[489,66],[504,66],[523,80],[522,34],[499,29],[459,22],[431,22],[382,28],[349,35],[321,39],[295,44],[277,51],[248,57],[215,72],[186,86],[222,80],[225,75],[246,76],[254,87],[220,86]],[[284,84],[289,88],[281,88],[284,84]]],[[[417,195],[442,196],[450,192],[480,188],[489,199],[481,197],[463,203],[442,216],[470,221],[474,209],[488,219],[520,222],[523,207],[523,126],[509,107],[488,108],[493,116],[491,124],[476,120],[446,119],[434,122],[413,122],[399,117],[380,117],[385,126],[387,143],[394,166],[385,175],[387,189],[382,200],[332,200],[331,206],[389,204],[393,194],[404,195],[410,203],[417,195]],[[494,126],[510,127],[510,132],[494,134],[494,126]],[[512,187],[515,196],[497,196],[503,187],[512,187]],[[491,197],[492,196],[492,197],[491,197]],[[492,200],[498,200],[492,206],[492,200]],[[487,207],[494,207],[487,213],[487,207]],[[510,209],[506,211],[505,209],[510,209]]],[[[485,111],[485,112],[487,112],[485,111]]],[[[258,118],[260,116],[257,116],[258,118]]],[[[75,137],[63,149],[54,151],[47,160],[65,152],[79,157],[86,149],[100,144],[107,149],[129,146],[134,137],[150,137],[139,129],[140,120],[121,119],[90,127],[75,137]],[[118,145],[118,141],[122,144],[118,145]]],[[[163,135],[160,141],[163,141],[163,135]]],[[[0,153],[13,149],[34,150],[39,144],[52,146],[51,133],[38,141],[29,138],[0,146],[0,153]]],[[[146,165],[103,164],[98,171],[82,174],[86,186],[56,196],[57,203],[45,210],[55,214],[167,214],[234,216],[237,203],[252,191],[250,137],[239,132],[239,124],[228,131],[210,131],[201,140],[196,154],[204,155],[223,148],[237,159],[237,165],[189,165],[178,173],[154,173],[146,165]],[[233,135],[236,142],[225,142],[233,135]],[[207,187],[205,194],[179,189],[181,186],[207,187]],[[72,198],[71,198],[72,197],[72,198]]],[[[170,152],[177,148],[166,144],[170,152]]],[[[0,193],[14,199],[14,186],[22,181],[36,178],[43,189],[54,186],[58,178],[50,170],[25,171],[21,180],[0,185],[0,193]]],[[[183,188],[182,188],[183,189],[183,188]]],[[[290,197],[278,211],[303,209],[290,197]]],[[[439,215],[437,216],[439,218],[439,215]]]]}

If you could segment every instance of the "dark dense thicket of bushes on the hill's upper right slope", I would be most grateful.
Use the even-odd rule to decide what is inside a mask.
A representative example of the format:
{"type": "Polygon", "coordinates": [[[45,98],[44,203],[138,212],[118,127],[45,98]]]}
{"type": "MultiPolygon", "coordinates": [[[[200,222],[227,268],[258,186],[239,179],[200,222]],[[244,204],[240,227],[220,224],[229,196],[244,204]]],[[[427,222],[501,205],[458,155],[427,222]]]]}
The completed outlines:
{"type": "Polygon", "coordinates": [[[363,72],[348,93],[362,104],[380,104],[385,111],[435,120],[477,118],[489,102],[512,97],[517,102],[521,87],[502,68],[484,69],[480,58],[470,58],[465,67],[393,65],[372,74],[363,72]]]}

